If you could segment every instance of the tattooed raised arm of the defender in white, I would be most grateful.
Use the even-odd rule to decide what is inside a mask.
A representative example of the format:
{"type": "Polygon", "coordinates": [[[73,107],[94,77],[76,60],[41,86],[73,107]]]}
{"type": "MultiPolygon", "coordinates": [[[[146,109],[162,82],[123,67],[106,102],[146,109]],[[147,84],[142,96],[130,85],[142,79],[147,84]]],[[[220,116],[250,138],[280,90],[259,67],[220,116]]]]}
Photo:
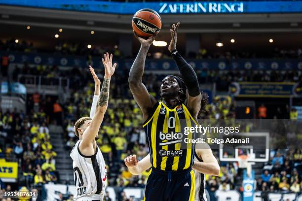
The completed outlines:
{"type": "MultiPolygon", "coordinates": [[[[109,57],[109,54],[106,53],[105,58],[102,59],[103,65],[105,67],[104,82],[96,106],[95,114],[91,120],[89,127],[83,133],[82,142],[80,143],[81,147],[90,145],[90,143],[94,140],[96,134],[99,132],[100,126],[103,122],[109,100],[110,79],[116,67],[116,64],[112,65],[112,57],[112,54],[109,57]]],[[[92,67],[90,67],[90,71],[93,76],[96,76],[92,67]]]]}

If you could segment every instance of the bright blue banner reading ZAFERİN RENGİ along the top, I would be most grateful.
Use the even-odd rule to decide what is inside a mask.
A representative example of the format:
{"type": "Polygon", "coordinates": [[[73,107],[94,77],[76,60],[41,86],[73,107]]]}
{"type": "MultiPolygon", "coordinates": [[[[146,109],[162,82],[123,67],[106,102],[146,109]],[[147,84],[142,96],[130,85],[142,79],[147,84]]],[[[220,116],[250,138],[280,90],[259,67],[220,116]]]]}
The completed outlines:
{"type": "Polygon", "coordinates": [[[297,13],[302,1],[111,2],[101,0],[0,0],[0,4],[85,12],[134,14],[151,8],[159,14],[297,13]]]}

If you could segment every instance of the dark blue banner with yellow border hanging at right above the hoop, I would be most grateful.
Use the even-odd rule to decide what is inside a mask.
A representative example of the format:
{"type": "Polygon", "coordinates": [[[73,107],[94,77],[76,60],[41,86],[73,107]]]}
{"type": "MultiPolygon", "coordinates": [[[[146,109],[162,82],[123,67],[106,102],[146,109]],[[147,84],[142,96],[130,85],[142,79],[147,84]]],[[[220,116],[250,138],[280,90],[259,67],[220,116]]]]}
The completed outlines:
{"type": "Polygon", "coordinates": [[[233,82],[229,93],[236,97],[279,97],[301,96],[299,83],[294,82],[233,82]]]}

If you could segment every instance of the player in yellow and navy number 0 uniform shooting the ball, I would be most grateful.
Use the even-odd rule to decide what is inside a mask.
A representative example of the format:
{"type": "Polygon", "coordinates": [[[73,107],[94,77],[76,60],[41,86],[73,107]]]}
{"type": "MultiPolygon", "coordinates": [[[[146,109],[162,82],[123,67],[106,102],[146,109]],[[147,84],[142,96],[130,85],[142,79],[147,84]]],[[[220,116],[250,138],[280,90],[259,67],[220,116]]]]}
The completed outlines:
{"type": "MultiPolygon", "coordinates": [[[[177,29],[173,24],[169,51],[178,66],[181,77],[168,75],[160,86],[160,102],[152,97],[142,83],[145,61],[157,33],[148,39],[136,38],[140,51],[130,69],[129,86],[143,112],[152,172],[148,178],[146,201],[194,201],[195,176],[191,169],[194,159],[193,144],[181,149],[184,127],[197,124],[202,95],[196,73],[176,50],[177,29]],[[183,121],[181,121],[183,120],[183,121]]],[[[188,138],[194,138],[189,133],[188,138]]]]}

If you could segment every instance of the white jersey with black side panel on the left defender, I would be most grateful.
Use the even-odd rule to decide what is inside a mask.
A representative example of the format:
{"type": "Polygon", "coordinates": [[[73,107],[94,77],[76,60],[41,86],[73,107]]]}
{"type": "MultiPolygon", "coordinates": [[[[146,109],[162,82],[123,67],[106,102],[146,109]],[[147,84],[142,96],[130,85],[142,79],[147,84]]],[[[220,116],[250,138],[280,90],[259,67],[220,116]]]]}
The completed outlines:
{"type": "Polygon", "coordinates": [[[78,148],[80,142],[81,140],[76,142],[70,154],[74,161],[75,200],[81,197],[95,197],[97,195],[100,195],[102,198],[107,185],[107,171],[104,157],[98,146],[94,155],[82,155],[78,148]]]}

